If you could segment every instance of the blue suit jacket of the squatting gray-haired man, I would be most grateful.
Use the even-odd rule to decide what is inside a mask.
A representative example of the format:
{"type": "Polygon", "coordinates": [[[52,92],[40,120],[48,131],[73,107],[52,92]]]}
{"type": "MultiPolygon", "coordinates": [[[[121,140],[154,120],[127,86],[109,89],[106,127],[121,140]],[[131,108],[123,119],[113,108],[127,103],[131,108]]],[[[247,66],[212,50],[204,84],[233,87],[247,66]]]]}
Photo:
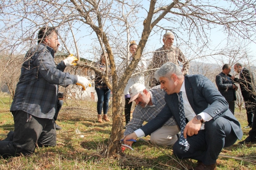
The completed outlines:
{"type": "MultiPolygon", "coordinates": [[[[237,138],[241,139],[243,132],[240,123],[229,110],[227,101],[216,89],[214,84],[202,75],[187,75],[184,81],[186,95],[195,114],[206,112],[213,118],[213,121],[219,117],[226,118],[231,124],[232,130],[237,138]]],[[[177,93],[171,95],[165,94],[165,101],[166,105],[161,112],[145,126],[141,127],[145,136],[160,128],[172,116],[181,128],[179,97],[177,93]]]]}

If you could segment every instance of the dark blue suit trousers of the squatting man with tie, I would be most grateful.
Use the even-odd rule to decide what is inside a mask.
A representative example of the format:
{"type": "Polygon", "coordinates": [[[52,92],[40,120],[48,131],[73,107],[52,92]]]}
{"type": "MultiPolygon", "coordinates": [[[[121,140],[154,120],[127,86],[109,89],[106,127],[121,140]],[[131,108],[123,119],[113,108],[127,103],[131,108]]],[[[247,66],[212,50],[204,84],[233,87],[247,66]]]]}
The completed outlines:
{"type": "Polygon", "coordinates": [[[190,158],[202,161],[205,165],[216,163],[219,153],[237,141],[230,122],[219,117],[205,122],[205,130],[187,138],[188,146],[181,146],[179,140],[173,146],[173,153],[178,158],[190,158]]]}

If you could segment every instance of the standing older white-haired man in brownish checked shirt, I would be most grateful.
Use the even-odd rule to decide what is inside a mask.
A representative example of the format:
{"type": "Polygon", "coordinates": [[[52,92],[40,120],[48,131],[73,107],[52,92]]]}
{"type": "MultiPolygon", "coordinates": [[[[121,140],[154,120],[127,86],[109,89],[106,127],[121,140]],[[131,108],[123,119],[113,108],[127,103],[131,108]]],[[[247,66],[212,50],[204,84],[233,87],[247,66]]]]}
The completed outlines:
{"type": "MultiPolygon", "coordinates": [[[[166,32],[163,36],[163,47],[157,49],[154,52],[152,62],[149,65],[148,69],[160,68],[166,62],[172,62],[176,65],[179,65],[179,62],[183,65],[182,73],[183,75],[188,74],[189,71],[189,62],[186,57],[183,55],[182,51],[173,46],[174,35],[172,32],[166,32]]],[[[150,87],[159,85],[160,83],[155,79],[156,70],[150,71],[150,87]]]]}

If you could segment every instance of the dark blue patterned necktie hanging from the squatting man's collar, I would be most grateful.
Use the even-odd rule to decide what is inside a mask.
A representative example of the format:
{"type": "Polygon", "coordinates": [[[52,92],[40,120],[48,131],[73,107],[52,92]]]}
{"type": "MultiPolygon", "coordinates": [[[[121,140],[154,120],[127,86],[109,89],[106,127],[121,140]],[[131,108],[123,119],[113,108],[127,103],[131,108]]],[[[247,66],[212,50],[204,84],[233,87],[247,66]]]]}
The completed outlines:
{"type": "Polygon", "coordinates": [[[182,99],[182,91],[179,92],[179,111],[180,111],[180,122],[181,122],[181,137],[179,140],[179,144],[182,146],[188,146],[188,141],[184,138],[183,132],[186,126],[186,118],[185,118],[185,113],[184,113],[184,107],[183,107],[183,99],[182,99]]]}

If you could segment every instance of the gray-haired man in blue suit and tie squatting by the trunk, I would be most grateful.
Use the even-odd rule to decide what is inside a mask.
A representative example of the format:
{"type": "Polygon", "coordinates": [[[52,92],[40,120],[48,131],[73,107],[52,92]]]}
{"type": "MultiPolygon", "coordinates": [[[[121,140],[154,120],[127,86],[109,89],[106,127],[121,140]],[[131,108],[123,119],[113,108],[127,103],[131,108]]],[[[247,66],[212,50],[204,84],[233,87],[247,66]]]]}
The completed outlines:
{"type": "Polygon", "coordinates": [[[195,170],[216,170],[223,147],[231,146],[243,136],[227,101],[209,79],[202,75],[183,77],[180,67],[173,63],[165,63],[156,71],[155,78],[167,93],[166,105],[145,126],[126,136],[125,144],[131,146],[132,142],[127,140],[147,136],[173,116],[181,129],[173,153],[180,159],[198,160],[195,170]],[[188,123],[182,121],[184,117],[188,123]]]}

